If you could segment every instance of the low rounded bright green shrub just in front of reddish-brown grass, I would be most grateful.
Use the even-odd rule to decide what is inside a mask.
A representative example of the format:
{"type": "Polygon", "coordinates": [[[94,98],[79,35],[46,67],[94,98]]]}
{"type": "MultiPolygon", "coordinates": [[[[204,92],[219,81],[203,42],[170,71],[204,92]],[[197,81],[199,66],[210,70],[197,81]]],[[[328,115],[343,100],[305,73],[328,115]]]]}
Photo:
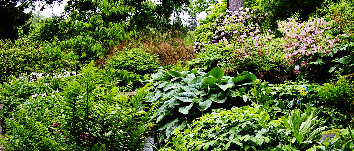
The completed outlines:
{"type": "Polygon", "coordinates": [[[158,56],[135,48],[125,49],[124,52],[112,56],[104,66],[144,75],[155,73],[159,69],[158,64],[158,56]]]}

